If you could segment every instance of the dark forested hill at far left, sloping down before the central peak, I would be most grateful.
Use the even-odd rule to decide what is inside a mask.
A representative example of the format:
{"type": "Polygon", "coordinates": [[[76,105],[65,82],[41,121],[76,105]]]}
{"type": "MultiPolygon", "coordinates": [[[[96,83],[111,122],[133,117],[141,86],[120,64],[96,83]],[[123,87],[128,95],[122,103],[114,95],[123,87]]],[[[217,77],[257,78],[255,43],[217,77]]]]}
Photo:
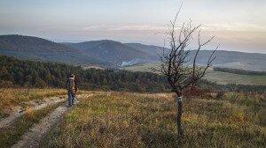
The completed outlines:
{"type": "Polygon", "coordinates": [[[66,45],[23,35],[0,35],[0,54],[58,63],[106,63],[97,57],[66,45]]]}

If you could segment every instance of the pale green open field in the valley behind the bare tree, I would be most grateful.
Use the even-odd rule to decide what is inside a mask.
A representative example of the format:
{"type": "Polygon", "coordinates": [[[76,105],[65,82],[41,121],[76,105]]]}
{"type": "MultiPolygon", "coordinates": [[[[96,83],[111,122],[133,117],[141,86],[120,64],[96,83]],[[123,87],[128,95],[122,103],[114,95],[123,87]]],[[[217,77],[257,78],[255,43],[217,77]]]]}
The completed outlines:
{"type": "MultiPolygon", "coordinates": [[[[158,67],[158,63],[144,63],[137,64],[123,68],[124,70],[132,71],[152,71],[151,67],[158,67]]],[[[221,85],[225,84],[241,84],[241,85],[266,85],[266,75],[255,76],[255,75],[240,75],[229,72],[215,71],[209,69],[205,76],[207,80],[216,82],[221,85]]]]}

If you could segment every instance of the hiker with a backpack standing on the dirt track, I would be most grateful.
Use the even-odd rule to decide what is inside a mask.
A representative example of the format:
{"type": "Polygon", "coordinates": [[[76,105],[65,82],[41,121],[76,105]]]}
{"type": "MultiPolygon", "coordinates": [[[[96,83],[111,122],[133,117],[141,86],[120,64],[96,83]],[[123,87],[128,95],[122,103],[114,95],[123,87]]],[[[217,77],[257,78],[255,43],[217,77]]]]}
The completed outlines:
{"type": "Polygon", "coordinates": [[[74,74],[70,75],[66,83],[66,90],[68,93],[68,107],[74,105],[75,93],[77,91],[77,85],[74,79],[74,74]]]}

